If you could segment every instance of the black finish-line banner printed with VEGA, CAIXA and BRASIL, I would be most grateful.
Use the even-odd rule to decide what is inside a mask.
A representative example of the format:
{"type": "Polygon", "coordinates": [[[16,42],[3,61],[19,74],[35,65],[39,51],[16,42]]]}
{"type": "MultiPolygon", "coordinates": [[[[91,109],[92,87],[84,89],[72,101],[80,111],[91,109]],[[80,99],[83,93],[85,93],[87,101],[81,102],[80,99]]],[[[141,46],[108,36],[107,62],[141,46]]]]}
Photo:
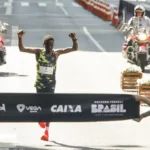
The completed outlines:
{"type": "Polygon", "coordinates": [[[0,94],[0,122],[92,122],[139,117],[126,94],[0,94]]]}

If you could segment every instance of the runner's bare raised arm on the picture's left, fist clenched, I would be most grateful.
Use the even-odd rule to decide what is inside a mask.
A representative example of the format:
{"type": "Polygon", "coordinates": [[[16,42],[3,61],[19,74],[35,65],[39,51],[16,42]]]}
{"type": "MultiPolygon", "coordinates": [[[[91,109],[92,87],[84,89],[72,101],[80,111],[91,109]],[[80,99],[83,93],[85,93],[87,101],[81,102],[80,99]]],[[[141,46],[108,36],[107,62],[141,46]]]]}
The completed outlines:
{"type": "Polygon", "coordinates": [[[34,49],[34,48],[25,48],[23,46],[23,42],[22,42],[22,37],[24,35],[24,31],[23,30],[20,30],[18,32],[18,47],[19,47],[19,50],[21,52],[26,52],[26,53],[30,53],[30,54],[38,54],[40,52],[40,49],[34,49]]]}

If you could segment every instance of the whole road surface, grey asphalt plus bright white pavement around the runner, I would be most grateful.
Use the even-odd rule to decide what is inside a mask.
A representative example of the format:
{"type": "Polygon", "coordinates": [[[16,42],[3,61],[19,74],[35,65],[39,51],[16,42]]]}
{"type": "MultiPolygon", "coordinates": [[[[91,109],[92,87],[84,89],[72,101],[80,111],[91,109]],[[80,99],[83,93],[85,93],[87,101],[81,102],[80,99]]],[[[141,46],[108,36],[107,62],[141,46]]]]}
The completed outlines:
{"type": "MultiPolygon", "coordinates": [[[[123,37],[110,22],[94,16],[73,0],[10,2],[8,5],[5,0],[0,1],[0,18],[10,24],[6,37],[7,65],[0,68],[0,83],[5,85],[0,86],[1,92],[35,93],[35,57],[20,53],[17,47],[16,32],[24,29],[23,41],[28,47],[42,47],[46,34],[54,36],[55,48],[72,46],[68,34],[76,32],[79,51],[59,58],[56,93],[124,93],[120,89],[120,72],[127,67],[120,53],[123,37]],[[3,7],[4,3],[7,7],[3,7]]],[[[3,150],[8,146],[13,147],[9,150],[145,150],[150,149],[149,121],[147,118],[141,123],[132,120],[52,123],[50,142],[40,141],[43,130],[36,123],[2,123],[0,147],[3,150]]]]}

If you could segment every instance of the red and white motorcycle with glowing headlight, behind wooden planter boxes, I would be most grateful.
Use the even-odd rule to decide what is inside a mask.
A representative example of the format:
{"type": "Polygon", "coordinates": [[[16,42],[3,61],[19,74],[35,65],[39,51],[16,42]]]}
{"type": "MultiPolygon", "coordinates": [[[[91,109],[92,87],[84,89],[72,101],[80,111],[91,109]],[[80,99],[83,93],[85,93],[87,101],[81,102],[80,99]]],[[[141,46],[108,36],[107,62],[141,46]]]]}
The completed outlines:
{"type": "Polygon", "coordinates": [[[150,35],[149,29],[143,27],[129,27],[129,34],[122,46],[122,55],[131,63],[139,66],[142,72],[150,64],[150,35]],[[128,41],[132,39],[132,48],[127,49],[128,41]]]}

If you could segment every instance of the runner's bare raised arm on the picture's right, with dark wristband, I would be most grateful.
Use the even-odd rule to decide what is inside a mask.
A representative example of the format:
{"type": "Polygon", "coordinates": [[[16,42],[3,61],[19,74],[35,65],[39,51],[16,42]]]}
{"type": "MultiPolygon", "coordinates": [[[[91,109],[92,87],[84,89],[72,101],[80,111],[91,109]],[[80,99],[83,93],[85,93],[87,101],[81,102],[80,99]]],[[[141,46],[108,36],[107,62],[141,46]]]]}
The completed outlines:
{"type": "Polygon", "coordinates": [[[56,51],[57,56],[59,56],[61,54],[67,54],[67,53],[78,50],[78,42],[77,42],[77,39],[76,39],[76,34],[75,33],[70,33],[69,37],[72,39],[72,42],[73,42],[72,47],[57,50],[56,51]]]}

